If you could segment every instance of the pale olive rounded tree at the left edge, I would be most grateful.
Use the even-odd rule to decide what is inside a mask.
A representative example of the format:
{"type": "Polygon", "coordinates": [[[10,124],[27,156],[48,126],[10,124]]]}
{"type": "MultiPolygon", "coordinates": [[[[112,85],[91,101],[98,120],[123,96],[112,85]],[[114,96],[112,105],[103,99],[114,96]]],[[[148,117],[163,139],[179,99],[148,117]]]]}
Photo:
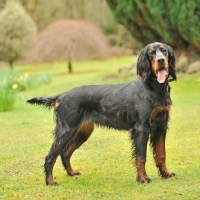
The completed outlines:
{"type": "Polygon", "coordinates": [[[23,57],[36,25],[23,7],[16,1],[8,1],[0,12],[0,60],[13,62],[23,57]]]}

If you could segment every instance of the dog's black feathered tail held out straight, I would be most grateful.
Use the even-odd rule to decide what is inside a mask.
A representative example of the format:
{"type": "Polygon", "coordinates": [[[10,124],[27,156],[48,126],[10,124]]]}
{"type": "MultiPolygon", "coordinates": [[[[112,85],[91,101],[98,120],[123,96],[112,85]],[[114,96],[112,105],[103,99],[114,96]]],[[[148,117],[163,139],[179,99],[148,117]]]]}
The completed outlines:
{"type": "Polygon", "coordinates": [[[51,108],[56,105],[56,100],[60,95],[51,96],[51,97],[34,97],[32,99],[27,100],[27,103],[33,105],[43,105],[47,108],[51,108]]]}

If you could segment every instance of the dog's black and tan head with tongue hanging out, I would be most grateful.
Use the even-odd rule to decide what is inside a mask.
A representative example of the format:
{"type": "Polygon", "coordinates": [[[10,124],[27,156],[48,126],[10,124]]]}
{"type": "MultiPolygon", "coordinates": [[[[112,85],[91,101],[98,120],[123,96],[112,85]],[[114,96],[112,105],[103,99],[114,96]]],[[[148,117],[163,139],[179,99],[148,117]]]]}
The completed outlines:
{"type": "Polygon", "coordinates": [[[147,45],[137,60],[137,74],[146,79],[149,76],[164,83],[170,76],[176,80],[175,56],[172,48],[155,42],[147,45]]]}

